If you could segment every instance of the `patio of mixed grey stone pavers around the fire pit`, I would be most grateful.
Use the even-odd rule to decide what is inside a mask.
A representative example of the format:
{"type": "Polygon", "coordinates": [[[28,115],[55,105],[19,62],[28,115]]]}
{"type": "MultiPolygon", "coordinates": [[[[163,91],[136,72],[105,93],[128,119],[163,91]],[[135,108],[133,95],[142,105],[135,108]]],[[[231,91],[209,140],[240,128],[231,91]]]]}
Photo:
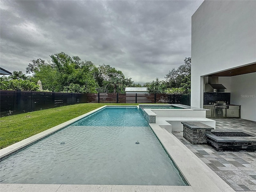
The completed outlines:
{"type": "MultiPolygon", "coordinates": [[[[216,130],[236,130],[256,136],[256,122],[244,119],[213,119],[216,130]]],[[[191,144],[182,132],[172,132],[185,146],[237,192],[256,192],[256,152],[217,152],[206,144],[191,144]]]]}

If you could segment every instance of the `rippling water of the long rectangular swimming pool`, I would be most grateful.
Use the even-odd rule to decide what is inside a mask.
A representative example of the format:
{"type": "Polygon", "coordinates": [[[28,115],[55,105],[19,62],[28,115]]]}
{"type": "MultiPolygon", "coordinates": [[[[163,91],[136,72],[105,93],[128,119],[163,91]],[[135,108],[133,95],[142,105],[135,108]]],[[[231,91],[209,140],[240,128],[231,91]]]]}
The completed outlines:
{"type": "Polygon", "coordinates": [[[1,183],[186,185],[136,107],[78,120],[0,162],[0,172],[1,183]]]}

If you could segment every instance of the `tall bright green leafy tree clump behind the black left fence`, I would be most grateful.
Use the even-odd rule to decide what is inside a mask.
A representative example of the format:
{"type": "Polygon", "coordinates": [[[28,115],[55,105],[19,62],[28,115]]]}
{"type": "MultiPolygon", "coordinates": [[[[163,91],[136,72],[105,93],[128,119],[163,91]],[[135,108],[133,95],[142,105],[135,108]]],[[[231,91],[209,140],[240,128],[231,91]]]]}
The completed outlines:
{"type": "Polygon", "coordinates": [[[32,60],[26,68],[32,73],[32,80],[41,80],[44,90],[55,92],[80,90],[82,92],[96,93],[97,68],[90,61],[80,62],[78,56],[69,56],[64,52],[50,55],[52,59],[45,62],[42,59],[32,60]],[[95,77],[94,77],[95,76],[95,77]],[[75,89],[74,87],[81,88],[75,89]]]}

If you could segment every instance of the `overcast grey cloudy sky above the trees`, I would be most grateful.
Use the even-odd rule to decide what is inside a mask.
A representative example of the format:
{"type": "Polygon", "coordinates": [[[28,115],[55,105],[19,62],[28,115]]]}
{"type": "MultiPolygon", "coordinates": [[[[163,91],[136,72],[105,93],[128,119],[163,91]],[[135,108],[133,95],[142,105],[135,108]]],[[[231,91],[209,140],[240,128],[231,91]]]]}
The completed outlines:
{"type": "Polygon", "coordinates": [[[121,70],[136,83],[164,80],[191,56],[191,16],[202,1],[2,1],[0,62],[13,72],[65,52],[121,70]]]}

